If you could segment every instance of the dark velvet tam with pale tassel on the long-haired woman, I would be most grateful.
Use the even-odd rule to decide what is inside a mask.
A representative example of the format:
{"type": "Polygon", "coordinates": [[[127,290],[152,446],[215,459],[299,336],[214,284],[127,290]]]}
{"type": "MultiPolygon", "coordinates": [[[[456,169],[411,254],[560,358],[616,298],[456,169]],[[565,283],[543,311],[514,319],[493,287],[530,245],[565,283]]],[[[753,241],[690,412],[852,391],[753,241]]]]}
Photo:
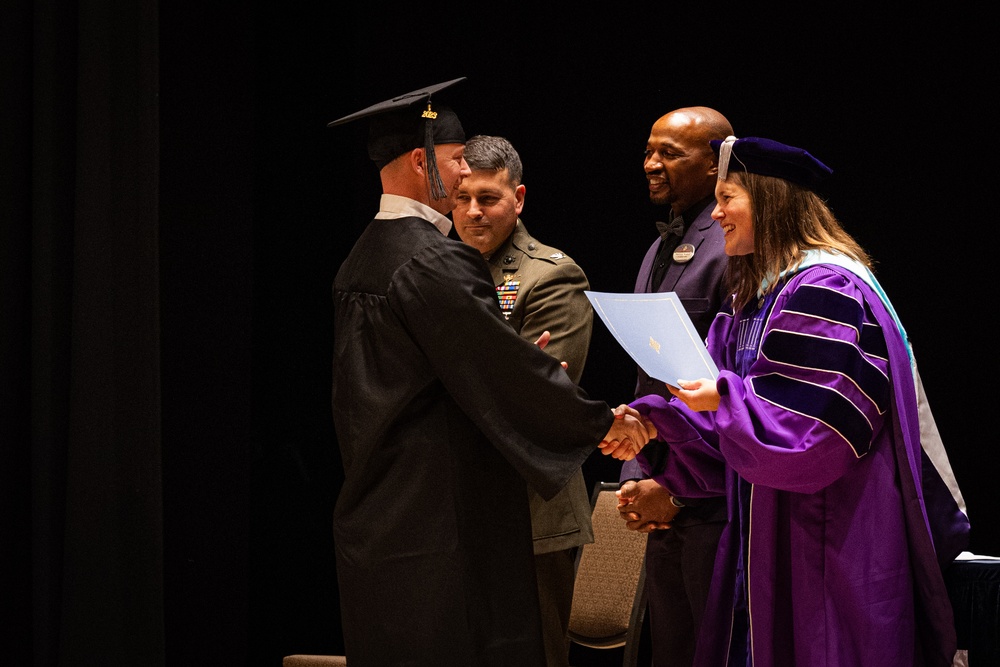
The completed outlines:
{"type": "Polygon", "coordinates": [[[712,139],[712,150],[719,157],[719,180],[730,171],[746,171],[783,178],[815,190],[833,170],[808,151],[760,137],[712,139]]]}

